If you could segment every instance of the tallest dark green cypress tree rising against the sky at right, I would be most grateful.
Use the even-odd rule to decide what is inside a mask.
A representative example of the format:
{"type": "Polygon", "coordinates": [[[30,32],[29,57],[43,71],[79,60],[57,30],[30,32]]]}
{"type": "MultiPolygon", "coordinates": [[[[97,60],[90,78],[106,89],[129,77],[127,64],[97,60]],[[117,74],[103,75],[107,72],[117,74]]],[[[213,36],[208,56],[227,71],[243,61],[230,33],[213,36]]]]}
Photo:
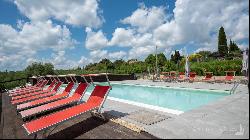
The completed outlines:
{"type": "Polygon", "coordinates": [[[220,27],[218,36],[218,52],[220,56],[225,57],[228,54],[227,37],[223,27],[220,27]]]}

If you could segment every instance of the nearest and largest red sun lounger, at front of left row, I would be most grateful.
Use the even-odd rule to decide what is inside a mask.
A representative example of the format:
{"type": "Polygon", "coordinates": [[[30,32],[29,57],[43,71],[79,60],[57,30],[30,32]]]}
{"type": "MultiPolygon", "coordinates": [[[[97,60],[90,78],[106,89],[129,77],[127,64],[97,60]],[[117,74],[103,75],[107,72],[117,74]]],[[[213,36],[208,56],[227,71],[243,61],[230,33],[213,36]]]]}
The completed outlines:
{"type": "Polygon", "coordinates": [[[28,123],[23,124],[23,127],[29,135],[35,134],[36,138],[36,134],[39,131],[59,125],[60,123],[77,117],[83,113],[97,109],[98,112],[100,112],[100,109],[102,108],[102,105],[104,104],[110,89],[111,86],[97,85],[95,86],[86,103],[81,103],[76,106],[30,121],[28,123]]]}

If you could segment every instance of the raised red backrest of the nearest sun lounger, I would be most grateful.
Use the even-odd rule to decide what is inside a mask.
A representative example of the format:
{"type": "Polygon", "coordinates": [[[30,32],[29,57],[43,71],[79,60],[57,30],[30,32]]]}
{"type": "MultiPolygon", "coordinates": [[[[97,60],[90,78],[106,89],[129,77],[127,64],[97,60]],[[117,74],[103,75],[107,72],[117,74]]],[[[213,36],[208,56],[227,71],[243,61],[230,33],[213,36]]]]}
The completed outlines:
{"type": "Polygon", "coordinates": [[[101,104],[110,88],[111,88],[110,86],[99,86],[99,85],[95,86],[87,103],[101,104]]]}

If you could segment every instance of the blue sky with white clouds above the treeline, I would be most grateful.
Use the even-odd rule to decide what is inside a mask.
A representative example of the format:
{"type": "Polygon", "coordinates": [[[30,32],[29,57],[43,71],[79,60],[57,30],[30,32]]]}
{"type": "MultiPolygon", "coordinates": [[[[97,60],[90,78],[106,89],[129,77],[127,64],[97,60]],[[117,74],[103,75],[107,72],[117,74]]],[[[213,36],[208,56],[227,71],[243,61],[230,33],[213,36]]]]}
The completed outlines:
{"type": "Polygon", "coordinates": [[[0,0],[0,71],[103,58],[217,51],[218,30],[249,47],[248,0],[0,0]]]}

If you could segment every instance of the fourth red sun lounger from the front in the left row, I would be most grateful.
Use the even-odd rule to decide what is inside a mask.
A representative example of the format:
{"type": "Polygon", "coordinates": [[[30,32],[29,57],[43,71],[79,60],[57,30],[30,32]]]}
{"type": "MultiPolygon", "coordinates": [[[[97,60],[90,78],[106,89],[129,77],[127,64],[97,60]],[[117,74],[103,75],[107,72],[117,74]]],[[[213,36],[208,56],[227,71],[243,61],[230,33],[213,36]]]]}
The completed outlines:
{"type": "Polygon", "coordinates": [[[29,96],[27,98],[21,98],[21,99],[17,99],[17,100],[13,100],[11,101],[12,104],[22,104],[22,103],[26,103],[26,102],[30,102],[39,98],[44,98],[44,97],[49,97],[52,96],[54,94],[56,94],[58,88],[62,85],[62,82],[58,82],[55,87],[53,88],[52,91],[49,92],[45,92],[45,93],[40,93],[40,94],[36,94],[34,96],[29,96]]]}

